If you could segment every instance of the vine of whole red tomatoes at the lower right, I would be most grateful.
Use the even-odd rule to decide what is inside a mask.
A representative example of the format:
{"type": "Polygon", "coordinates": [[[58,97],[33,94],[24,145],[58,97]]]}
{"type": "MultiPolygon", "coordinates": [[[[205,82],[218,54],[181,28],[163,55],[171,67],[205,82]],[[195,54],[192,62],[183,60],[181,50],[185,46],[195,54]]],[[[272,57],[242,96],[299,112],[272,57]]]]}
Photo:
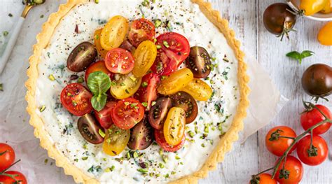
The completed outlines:
{"type": "Polygon", "coordinates": [[[330,129],[331,122],[323,122],[326,118],[331,119],[331,112],[326,106],[306,106],[305,112],[300,115],[300,123],[306,132],[300,134],[291,127],[279,126],[270,129],[265,136],[265,145],[273,155],[281,157],[275,163],[275,178],[270,174],[263,173],[253,176],[250,183],[299,183],[303,176],[303,165],[317,166],[328,157],[328,146],[321,134],[330,129]],[[326,115],[326,117],[324,116],[326,115]],[[317,124],[322,123],[317,126],[317,124]],[[295,142],[295,144],[294,144],[295,142]],[[291,147],[291,148],[290,148],[291,147]],[[296,150],[298,158],[288,155],[296,150]],[[286,155],[285,152],[287,153],[286,155]],[[282,157],[284,156],[284,157],[282,157]],[[279,162],[282,160],[281,162],[279,162]],[[279,162],[279,165],[277,165],[279,162]]]}

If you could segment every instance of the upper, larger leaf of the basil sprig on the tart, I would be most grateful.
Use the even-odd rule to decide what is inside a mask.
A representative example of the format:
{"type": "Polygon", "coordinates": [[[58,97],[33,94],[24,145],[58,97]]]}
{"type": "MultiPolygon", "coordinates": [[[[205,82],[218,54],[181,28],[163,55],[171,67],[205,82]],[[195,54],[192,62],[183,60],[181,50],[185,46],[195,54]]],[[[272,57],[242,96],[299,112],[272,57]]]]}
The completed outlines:
{"type": "Polygon", "coordinates": [[[109,90],[111,87],[111,79],[106,73],[95,71],[90,73],[87,84],[92,94],[100,95],[109,90]]]}

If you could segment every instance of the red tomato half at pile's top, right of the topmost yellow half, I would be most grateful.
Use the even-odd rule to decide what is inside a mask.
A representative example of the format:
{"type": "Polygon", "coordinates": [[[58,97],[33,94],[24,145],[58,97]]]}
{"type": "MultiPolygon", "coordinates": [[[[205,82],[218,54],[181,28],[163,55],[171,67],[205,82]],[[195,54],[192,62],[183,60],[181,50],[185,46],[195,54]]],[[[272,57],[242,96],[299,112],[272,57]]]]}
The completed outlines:
{"type": "Polygon", "coordinates": [[[153,41],[155,25],[145,18],[134,20],[130,26],[128,38],[130,43],[137,47],[142,41],[153,41]]]}

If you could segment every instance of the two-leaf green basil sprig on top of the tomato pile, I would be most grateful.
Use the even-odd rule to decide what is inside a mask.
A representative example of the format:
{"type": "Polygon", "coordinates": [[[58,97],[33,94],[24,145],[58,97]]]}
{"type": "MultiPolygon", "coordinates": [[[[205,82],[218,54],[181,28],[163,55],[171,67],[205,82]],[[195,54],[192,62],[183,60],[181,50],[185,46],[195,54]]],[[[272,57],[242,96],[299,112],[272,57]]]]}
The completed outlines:
{"type": "Polygon", "coordinates": [[[90,73],[87,84],[93,94],[91,99],[92,107],[95,108],[96,111],[101,111],[106,105],[106,92],[111,87],[111,78],[102,71],[95,71],[90,73]]]}

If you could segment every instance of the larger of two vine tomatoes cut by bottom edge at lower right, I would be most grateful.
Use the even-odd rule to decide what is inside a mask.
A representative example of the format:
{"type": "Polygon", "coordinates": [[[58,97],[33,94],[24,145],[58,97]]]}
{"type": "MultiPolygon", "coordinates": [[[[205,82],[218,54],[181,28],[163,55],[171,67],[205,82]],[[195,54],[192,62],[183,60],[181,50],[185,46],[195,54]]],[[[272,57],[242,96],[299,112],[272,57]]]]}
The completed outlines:
{"type": "MultiPolygon", "coordinates": [[[[278,162],[278,161],[277,161],[278,162]]],[[[276,164],[277,164],[276,162],[276,164]]],[[[282,160],[278,170],[277,174],[275,175],[275,178],[280,184],[296,184],[299,183],[303,176],[303,166],[300,160],[298,160],[296,157],[293,157],[291,155],[286,157],[286,162],[284,164],[284,169],[289,171],[289,178],[281,178],[280,170],[282,169],[282,166],[284,164],[284,160],[282,160]]]]}

